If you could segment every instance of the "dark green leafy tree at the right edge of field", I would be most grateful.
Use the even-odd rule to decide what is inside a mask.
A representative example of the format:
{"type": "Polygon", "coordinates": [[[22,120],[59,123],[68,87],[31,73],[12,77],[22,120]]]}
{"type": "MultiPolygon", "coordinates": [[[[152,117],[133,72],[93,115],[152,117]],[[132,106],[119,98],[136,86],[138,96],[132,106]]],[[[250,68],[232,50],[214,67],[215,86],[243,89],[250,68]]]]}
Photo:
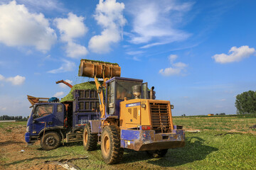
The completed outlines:
{"type": "Polygon", "coordinates": [[[235,107],[238,115],[256,115],[256,91],[245,91],[238,94],[235,107]]]}

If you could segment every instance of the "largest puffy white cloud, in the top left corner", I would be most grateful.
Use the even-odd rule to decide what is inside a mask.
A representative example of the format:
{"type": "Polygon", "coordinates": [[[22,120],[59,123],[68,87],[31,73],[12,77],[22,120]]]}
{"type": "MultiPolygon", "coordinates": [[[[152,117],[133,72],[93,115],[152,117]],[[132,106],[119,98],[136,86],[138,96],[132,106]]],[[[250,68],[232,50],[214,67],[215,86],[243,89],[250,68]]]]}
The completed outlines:
{"type": "Polygon", "coordinates": [[[0,6],[0,21],[0,42],[8,46],[35,46],[46,52],[57,38],[42,13],[29,13],[16,1],[0,6]]]}

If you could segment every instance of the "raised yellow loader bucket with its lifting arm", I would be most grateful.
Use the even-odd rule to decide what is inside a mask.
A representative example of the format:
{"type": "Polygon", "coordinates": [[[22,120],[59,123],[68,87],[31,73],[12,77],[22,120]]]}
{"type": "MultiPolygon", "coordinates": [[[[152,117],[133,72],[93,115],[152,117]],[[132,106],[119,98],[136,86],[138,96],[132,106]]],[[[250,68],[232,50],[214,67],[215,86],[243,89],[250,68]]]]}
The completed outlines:
{"type": "Polygon", "coordinates": [[[100,118],[105,117],[105,102],[104,91],[106,81],[112,77],[120,77],[121,67],[117,63],[100,62],[95,60],[81,60],[78,76],[91,77],[95,79],[97,91],[100,100],[100,118]],[[103,79],[103,84],[98,81],[99,78],[103,79]]]}

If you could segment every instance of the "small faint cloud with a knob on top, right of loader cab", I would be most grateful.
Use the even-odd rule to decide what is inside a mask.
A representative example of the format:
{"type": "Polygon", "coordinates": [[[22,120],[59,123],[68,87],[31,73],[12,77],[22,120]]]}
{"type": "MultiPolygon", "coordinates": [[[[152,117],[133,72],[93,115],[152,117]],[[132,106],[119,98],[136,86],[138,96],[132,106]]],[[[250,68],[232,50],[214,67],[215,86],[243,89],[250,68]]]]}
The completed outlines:
{"type": "Polygon", "coordinates": [[[186,67],[188,67],[188,64],[185,64],[183,62],[174,63],[174,60],[176,60],[177,57],[177,55],[169,55],[168,59],[171,63],[171,67],[166,69],[160,69],[159,73],[163,76],[168,77],[183,74],[183,72],[186,72],[186,67]]]}

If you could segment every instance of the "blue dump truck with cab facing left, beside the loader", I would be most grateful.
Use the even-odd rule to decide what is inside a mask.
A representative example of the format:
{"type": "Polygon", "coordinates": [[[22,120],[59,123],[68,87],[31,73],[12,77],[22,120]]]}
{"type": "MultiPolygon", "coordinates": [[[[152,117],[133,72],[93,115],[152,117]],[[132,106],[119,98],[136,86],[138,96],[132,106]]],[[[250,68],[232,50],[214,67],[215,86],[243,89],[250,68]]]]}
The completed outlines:
{"type": "MultiPolygon", "coordinates": [[[[82,141],[83,129],[88,120],[98,119],[100,103],[94,89],[74,90],[72,94],[73,100],[69,101],[34,102],[25,134],[28,145],[40,140],[42,149],[50,150],[58,147],[64,140],[82,141]]],[[[31,101],[31,98],[28,100],[31,101]]]]}

